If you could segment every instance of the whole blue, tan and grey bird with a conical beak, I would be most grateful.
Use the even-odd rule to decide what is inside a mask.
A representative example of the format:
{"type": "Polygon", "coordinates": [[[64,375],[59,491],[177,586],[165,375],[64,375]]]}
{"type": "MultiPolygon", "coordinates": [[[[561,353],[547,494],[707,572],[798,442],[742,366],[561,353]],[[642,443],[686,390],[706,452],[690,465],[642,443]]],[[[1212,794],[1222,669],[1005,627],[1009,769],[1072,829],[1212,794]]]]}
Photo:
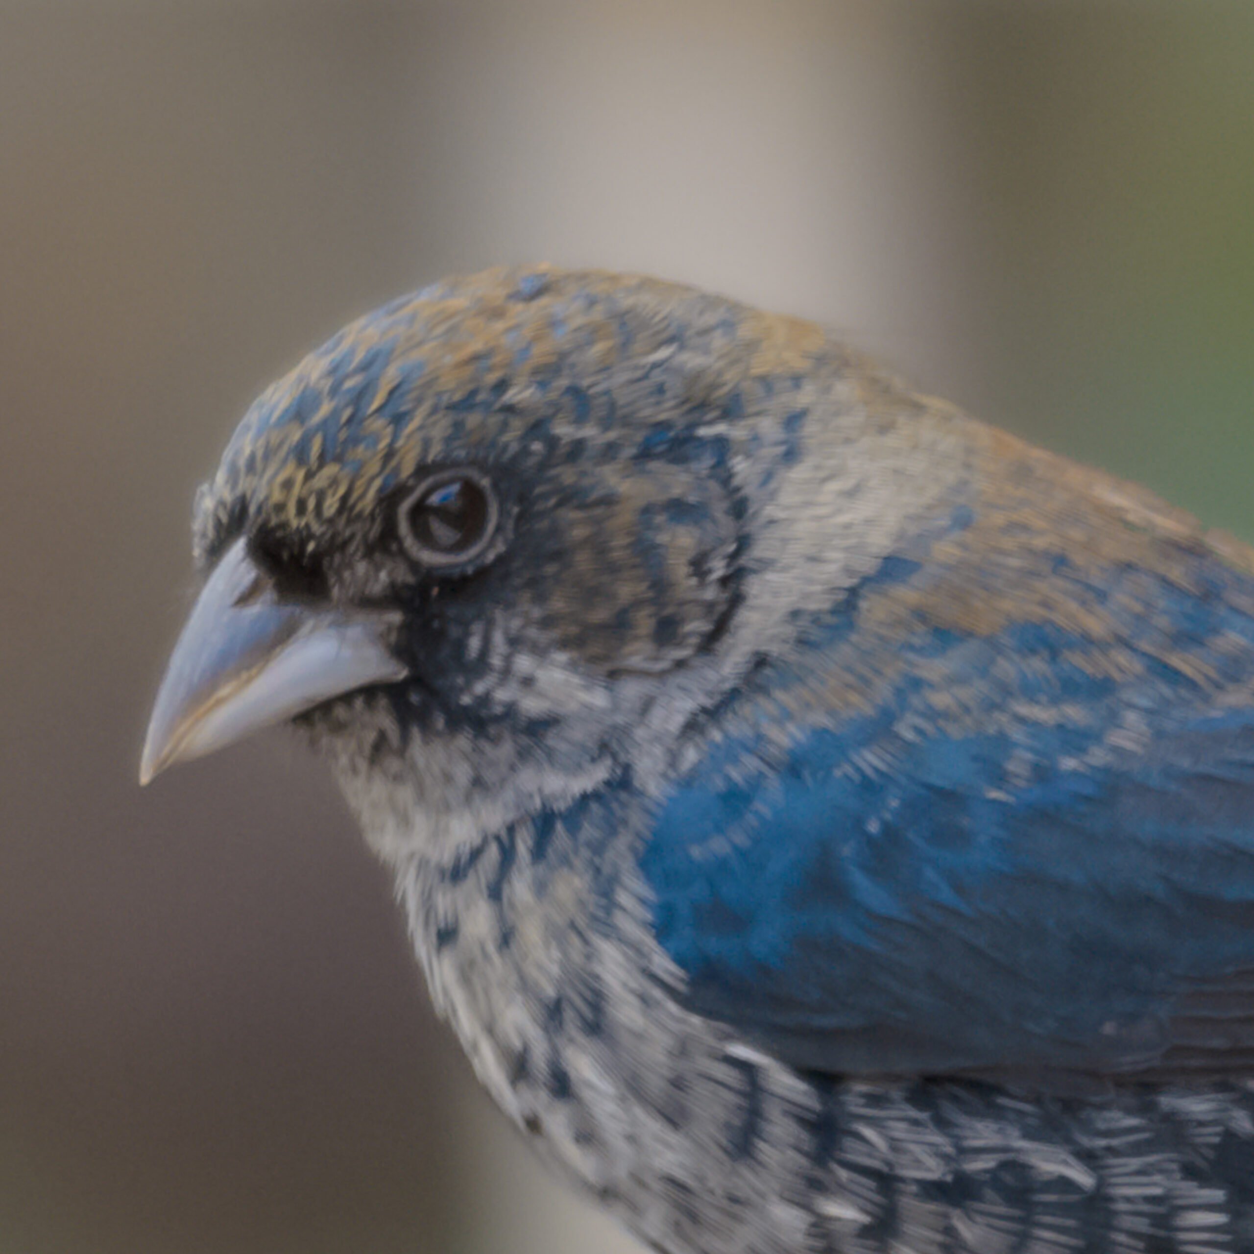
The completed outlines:
{"type": "Polygon", "coordinates": [[[142,780],[273,724],[663,1254],[1254,1250],[1254,551],[662,280],[351,322],[198,492],[142,780]]]}

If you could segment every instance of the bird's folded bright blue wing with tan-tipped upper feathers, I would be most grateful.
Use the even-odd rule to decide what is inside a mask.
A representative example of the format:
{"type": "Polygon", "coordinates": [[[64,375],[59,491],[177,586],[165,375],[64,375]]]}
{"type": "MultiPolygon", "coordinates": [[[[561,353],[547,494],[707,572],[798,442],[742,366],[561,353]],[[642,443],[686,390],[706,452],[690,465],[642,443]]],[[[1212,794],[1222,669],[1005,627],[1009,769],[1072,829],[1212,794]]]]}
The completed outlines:
{"type": "Polygon", "coordinates": [[[1254,581],[1081,504],[884,562],[710,717],[640,858],[687,1007],[829,1073],[1254,1070],[1254,581]]]}

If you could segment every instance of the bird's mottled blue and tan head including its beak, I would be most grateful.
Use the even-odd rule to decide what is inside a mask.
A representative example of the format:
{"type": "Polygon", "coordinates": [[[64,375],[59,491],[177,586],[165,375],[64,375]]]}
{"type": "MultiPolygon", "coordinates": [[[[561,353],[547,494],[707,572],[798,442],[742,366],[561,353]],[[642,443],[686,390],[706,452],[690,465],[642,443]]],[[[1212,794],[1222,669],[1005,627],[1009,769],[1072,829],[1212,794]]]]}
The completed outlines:
{"type": "Polygon", "coordinates": [[[874,425],[846,365],[811,324],[599,272],[489,271],[351,324],[198,494],[206,582],[142,776],[295,721],[396,853],[673,739],[727,670],[755,529],[841,479],[799,477],[811,410],[843,387],[874,425]]]}

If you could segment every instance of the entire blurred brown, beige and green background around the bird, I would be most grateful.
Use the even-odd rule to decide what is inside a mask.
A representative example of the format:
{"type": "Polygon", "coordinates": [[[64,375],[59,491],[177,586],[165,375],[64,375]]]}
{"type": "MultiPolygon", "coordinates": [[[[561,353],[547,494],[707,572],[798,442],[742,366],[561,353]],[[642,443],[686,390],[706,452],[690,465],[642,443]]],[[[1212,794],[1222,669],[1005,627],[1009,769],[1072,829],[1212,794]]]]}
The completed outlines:
{"type": "Polygon", "coordinates": [[[0,0],[0,1254],[622,1254],[273,735],[135,785],[192,492],[350,316],[657,272],[1254,539],[1250,0],[0,0]]]}

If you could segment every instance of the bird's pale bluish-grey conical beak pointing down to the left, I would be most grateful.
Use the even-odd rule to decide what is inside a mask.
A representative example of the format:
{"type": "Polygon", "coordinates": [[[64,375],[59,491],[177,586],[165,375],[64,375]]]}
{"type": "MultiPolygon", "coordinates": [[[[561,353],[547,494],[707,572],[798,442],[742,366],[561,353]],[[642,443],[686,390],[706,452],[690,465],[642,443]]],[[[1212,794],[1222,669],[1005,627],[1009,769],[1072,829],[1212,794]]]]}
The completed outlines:
{"type": "Polygon", "coordinates": [[[139,782],[321,701],[403,680],[405,667],[387,648],[398,623],[385,612],[280,601],[245,540],[236,540],[174,646],[139,782]]]}

